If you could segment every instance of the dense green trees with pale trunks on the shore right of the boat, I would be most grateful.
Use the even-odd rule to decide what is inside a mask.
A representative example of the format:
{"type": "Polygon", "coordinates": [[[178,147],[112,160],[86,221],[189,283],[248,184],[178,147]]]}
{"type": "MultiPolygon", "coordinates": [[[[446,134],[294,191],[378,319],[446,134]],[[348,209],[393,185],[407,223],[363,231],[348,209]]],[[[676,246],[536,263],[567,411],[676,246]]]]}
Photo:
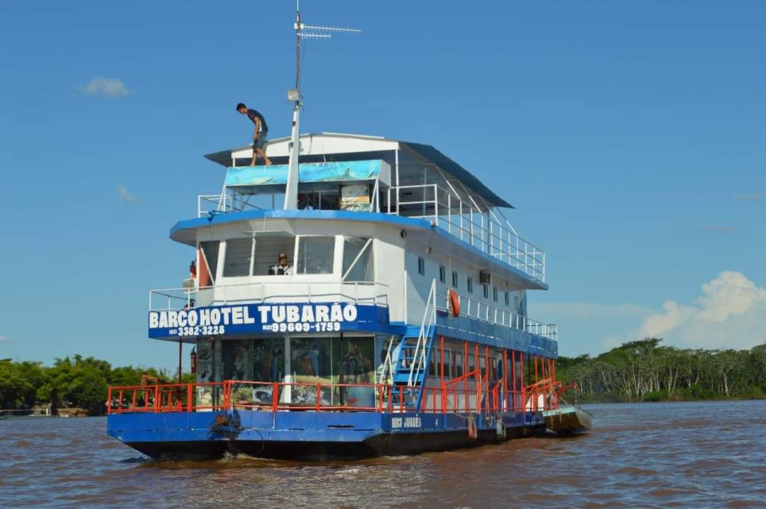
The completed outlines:
{"type": "Polygon", "coordinates": [[[766,344],[751,350],[680,349],[660,338],[630,341],[597,357],[559,357],[558,378],[584,402],[766,397],[766,344]]]}

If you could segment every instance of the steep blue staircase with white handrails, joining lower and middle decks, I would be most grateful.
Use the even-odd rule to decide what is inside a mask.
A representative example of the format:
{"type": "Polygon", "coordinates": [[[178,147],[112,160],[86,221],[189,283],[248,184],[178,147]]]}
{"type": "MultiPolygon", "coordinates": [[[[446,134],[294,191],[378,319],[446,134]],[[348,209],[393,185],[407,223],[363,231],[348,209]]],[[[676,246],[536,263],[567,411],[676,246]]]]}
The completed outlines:
{"type": "Polygon", "coordinates": [[[431,282],[421,326],[407,328],[399,344],[399,355],[394,367],[391,406],[419,412],[423,400],[423,386],[433,355],[436,329],[436,280],[431,282]]]}

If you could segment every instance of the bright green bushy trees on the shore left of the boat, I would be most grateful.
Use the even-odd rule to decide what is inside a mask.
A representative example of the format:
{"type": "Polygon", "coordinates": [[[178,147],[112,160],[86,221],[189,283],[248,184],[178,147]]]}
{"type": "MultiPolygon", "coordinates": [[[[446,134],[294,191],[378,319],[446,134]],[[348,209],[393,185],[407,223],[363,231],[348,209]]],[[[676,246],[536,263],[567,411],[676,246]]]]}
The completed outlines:
{"type": "MultiPolygon", "coordinates": [[[[64,357],[52,366],[41,362],[0,360],[0,409],[32,409],[51,406],[81,408],[90,415],[106,413],[109,386],[140,385],[146,374],[159,380],[175,381],[177,375],[146,367],[112,367],[93,357],[64,357]]],[[[185,374],[184,383],[193,380],[185,374]]]]}

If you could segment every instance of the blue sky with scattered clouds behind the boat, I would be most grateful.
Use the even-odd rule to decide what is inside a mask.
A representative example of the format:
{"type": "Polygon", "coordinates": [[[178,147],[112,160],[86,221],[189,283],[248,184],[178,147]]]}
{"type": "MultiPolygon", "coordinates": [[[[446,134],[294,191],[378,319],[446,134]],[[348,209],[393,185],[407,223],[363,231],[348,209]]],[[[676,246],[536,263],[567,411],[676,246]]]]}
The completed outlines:
{"type": "MultiPolygon", "coordinates": [[[[548,252],[562,354],[766,342],[764,2],[303,0],[304,131],[426,142],[548,252]]],[[[291,2],[3,2],[0,357],[172,366],[147,291],[220,189],[201,155],[286,135],[291,2]]]]}

